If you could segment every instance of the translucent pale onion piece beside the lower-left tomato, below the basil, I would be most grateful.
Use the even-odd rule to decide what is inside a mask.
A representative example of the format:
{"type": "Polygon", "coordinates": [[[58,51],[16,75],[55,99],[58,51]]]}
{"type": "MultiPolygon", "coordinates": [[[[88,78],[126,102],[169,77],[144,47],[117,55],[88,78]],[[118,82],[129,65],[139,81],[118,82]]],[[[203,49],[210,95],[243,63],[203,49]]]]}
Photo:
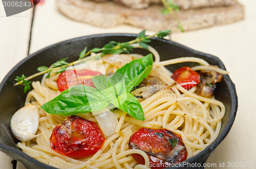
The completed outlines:
{"type": "Polygon", "coordinates": [[[105,108],[100,111],[94,111],[92,114],[106,137],[111,137],[115,134],[118,120],[112,111],[105,108]]]}

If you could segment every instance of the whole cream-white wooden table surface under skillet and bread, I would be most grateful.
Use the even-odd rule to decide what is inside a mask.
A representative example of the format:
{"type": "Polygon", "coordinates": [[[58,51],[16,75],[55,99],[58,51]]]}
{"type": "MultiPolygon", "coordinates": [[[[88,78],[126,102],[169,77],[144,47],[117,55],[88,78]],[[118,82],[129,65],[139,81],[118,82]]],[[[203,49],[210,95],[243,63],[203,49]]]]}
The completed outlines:
{"type": "MultiPolygon", "coordinates": [[[[256,63],[256,1],[240,0],[246,8],[245,20],[203,29],[198,31],[175,33],[172,40],[199,51],[219,57],[230,72],[236,84],[239,96],[239,108],[236,120],[223,142],[208,158],[207,163],[217,163],[217,168],[228,168],[228,162],[256,163],[256,105],[255,63],[256,63]],[[225,163],[225,167],[219,167],[225,163]]],[[[30,30],[33,9],[6,17],[0,3],[0,80],[8,71],[33,53],[53,43],[75,37],[100,33],[139,33],[141,29],[121,25],[110,29],[76,22],[61,15],[54,0],[45,0],[36,6],[30,30]]],[[[147,31],[147,34],[153,32],[147,31]]],[[[1,103],[0,103],[1,104],[1,103]]],[[[0,152],[0,168],[13,168],[10,157],[0,152]]],[[[15,167],[15,166],[14,166],[15,167]]],[[[16,168],[25,166],[17,162],[16,168]]],[[[248,167],[254,168],[254,167],[248,167]]]]}

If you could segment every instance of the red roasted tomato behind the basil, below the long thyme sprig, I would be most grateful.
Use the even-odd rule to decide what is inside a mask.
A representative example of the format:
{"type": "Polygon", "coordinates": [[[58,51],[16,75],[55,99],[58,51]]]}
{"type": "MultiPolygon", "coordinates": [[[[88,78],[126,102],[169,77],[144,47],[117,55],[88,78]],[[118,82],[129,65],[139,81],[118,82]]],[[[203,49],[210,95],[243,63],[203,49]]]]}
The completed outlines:
{"type": "Polygon", "coordinates": [[[86,85],[94,87],[92,76],[102,75],[98,71],[93,71],[90,69],[80,69],[80,70],[66,70],[62,72],[57,78],[57,87],[60,92],[75,86],[75,85],[86,85]]]}

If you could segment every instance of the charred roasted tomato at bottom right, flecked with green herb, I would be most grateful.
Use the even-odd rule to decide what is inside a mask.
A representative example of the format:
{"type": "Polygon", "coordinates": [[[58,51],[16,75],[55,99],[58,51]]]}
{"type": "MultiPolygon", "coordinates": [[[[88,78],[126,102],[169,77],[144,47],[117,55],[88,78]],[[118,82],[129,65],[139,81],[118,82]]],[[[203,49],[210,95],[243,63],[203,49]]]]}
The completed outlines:
{"type": "MultiPolygon", "coordinates": [[[[187,157],[181,136],[164,128],[140,128],[130,137],[129,148],[144,151],[150,158],[151,168],[167,167],[187,157]]],[[[141,155],[132,156],[139,164],[145,163],[141,155]]]]}

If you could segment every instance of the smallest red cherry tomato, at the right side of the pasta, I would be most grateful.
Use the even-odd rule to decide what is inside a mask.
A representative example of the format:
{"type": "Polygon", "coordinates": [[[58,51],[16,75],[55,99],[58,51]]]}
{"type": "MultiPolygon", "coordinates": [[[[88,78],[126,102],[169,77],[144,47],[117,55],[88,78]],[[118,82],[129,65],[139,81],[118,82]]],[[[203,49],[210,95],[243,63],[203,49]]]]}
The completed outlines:
{"type": "Polygon", "coordinates": [[[176,70],[172,78],[187,90],[193,88],[200,82],[200,75],[190,67],[182,67],[176,70]]]}

